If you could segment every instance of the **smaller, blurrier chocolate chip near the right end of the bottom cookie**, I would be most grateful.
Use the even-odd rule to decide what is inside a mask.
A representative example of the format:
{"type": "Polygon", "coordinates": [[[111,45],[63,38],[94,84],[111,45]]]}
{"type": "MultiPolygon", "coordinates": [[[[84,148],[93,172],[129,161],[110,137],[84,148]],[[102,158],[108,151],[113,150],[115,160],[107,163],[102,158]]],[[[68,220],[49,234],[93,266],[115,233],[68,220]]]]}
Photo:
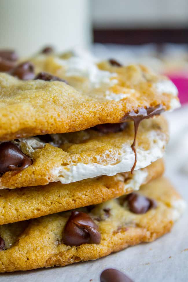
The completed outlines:
{"type": "Polygon", "coordinates": [[[137,214],[146,213],[149,209],[157,207],[155,200],[134,192],[126,196],[126,200],[128,201],[129,210],[137,214]]]}

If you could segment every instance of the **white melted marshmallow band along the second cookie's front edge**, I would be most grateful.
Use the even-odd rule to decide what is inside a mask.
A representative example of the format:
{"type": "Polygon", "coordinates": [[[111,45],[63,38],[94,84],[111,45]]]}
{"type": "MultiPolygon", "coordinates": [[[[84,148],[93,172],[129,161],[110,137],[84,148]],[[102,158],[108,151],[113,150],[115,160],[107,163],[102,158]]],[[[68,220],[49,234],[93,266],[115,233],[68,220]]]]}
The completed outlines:
{"type": "MultiPolygon", "coordinates": [[[[163,156],[166,145],[165,135],[158,134],[153,130],[148,134],[148,139],[150,140],[149,150],[137,148],[138,160],[135,170],[146,167],[163,156]]],[[[110,154],[112,154],[112,152],[110,154]]],[[[106,160],[106,162],[108,165],[101,163],[73,163],[66,166],[61,165],[54,167],[51,173],[54,176],[54,181],[60,181],[61,183],[71,183],[100,175],[113,176],[119,172],[128,172],[131,170],[134,164],[134,152],[130,148],[130,145],[125,143],[122,146],[119,161],[110,163],[110,160],[106,160]]]]}

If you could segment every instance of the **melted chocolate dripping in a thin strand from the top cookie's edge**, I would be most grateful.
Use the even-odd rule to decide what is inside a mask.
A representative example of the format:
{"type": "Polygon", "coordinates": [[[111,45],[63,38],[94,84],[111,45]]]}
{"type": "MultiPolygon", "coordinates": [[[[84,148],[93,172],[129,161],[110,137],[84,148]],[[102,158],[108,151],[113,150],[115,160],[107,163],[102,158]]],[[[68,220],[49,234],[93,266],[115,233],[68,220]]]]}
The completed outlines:
{"type": "Polygon", "coordinates": [[[132,119],[134,122],[134,141],[131,145],[131,148],[134,152],[134,165],[131,169],[131,173],[133,173],[134,168],[137,164],[137,150],[136,150],[136,138],[137,138],[137,132],[138,132],[138,128],[139,128],[139,124],[142,120],[144,119],[148,119],[149,117],[152,117],[154,115],[160,115],[162,112],[164,112],[164,107],[163,105],[157,105],[155,107],[148,107],[148,108],[138,108],[137,110],[133,110],[129,113],[127,113],[124,118],[122,119],[122,121],[126,120],[126,119],[132,119]]]}

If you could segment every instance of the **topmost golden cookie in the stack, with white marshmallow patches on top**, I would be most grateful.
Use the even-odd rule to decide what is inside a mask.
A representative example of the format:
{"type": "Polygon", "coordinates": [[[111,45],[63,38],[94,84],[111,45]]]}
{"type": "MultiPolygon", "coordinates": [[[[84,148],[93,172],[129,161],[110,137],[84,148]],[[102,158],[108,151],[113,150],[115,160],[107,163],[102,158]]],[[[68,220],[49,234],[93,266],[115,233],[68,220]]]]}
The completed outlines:
{"type": "Polygon", "coordinates": [[[42,56],[41,69],[65,78],[70,85],[23,81],[0,73],[2,141],[117,123],[141,107],[161,105],[172,110],[180,106],[174,84],[145,67],[106,67],[76,56],[67,60],[42,56]]]}

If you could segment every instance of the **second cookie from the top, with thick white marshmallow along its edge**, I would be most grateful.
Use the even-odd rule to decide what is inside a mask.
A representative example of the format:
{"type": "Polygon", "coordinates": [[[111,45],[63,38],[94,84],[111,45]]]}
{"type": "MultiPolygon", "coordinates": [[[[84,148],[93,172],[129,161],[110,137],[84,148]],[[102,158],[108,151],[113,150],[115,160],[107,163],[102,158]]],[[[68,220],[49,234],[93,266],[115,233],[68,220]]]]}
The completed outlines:
{"type": "MultiPolygon", "coordinates": [[[[119,125],[116,126],[118,128],[119,125]]],[[[134,152],[131,149],[134,139],[132,122],[125,124],[125,128],[119,132],[104,133],[101,128],[93,128],[47,136],[51,140],[49,143],[45,143],[43,137],[13,141],[14,146],[21,148],[32,159],[33,164],[29,163],[28,166],[26,163],[27,166],[23,169],[25,161],[22,159],[21,166],[10,166],[13,165],[14,158],[10,158],[10,162],[5,158],[7,166],[1,170],[5,172],[0,177],[1,189],[46,185],[56,181],[71,183],[101,175],[113,176],[119,172],[130,171],[134,164],[134,152]]],[[[163,157],[168,141],[167,122],[162,116],[142,121],[136,140],[137,170],[163,157]]],[[[3,162],[0,169],[1,166],[3,162]]]]}

